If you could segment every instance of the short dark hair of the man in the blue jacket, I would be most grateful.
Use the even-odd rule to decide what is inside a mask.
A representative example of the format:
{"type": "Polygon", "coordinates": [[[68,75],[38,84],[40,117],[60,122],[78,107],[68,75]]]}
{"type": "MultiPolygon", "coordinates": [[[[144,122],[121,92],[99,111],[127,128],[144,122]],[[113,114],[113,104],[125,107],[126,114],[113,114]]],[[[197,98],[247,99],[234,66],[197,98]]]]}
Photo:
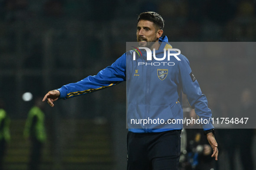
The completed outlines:
{"type": "Polygon", "coordinates": [[[155,12],[144,12],[139,14],[137,19],[137,24],[140,20],[151,21],[157,26],[159,26],[160,29],[163,29],[165,26],[162,16],[160,16],[158,13],[155,13],[155,12]]]}

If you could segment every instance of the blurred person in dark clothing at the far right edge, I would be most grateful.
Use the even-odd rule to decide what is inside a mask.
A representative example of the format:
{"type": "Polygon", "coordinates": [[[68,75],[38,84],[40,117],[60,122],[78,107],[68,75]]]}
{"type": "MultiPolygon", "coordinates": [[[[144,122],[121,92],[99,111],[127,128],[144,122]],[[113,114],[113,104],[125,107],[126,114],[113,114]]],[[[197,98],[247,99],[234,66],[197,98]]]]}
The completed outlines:
{"type": "MultiPolygon", "coordinates": [[[[254,121],[255,101],[249,88],[243,89],[240,96],[240,110],[237,117],[249,117],[248,121],[254,121]]],[[[253,161],[253,137],[255,129],[230,129],[227,141],[227,153],[230,161],[230,170],[235,170],[235,153],[238,150],[243,170],[254,170],[253,161]],[[238,137],[238,138],[237,138],[238,137]]]]}

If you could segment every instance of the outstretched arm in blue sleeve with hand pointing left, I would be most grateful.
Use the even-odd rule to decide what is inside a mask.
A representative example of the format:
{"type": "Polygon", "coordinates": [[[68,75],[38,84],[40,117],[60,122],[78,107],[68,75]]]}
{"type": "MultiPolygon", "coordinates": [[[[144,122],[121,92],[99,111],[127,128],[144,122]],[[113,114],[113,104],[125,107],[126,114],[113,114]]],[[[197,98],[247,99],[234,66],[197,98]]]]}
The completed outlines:
{"type": "Polygon", "coordinates": [[[111,66],[101,70],[95,76],[87,76],[79,82],[69,83],[49,91],[42,101],[47,99],[48,104],[54,107],[53,102],[58,99],[73,98],[117,85],[123,81],[126,81],[126,54],[123,54],[111,66]]]}

